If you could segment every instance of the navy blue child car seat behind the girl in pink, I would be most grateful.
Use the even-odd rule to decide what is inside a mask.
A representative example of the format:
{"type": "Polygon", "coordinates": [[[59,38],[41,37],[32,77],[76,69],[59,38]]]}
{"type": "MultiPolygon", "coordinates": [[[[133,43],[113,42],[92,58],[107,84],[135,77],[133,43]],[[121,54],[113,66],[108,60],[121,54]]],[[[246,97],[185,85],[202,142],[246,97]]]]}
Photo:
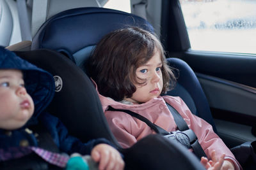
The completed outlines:
{"type": "MultiPolygon", "coordinates": [[[[131,13],[106,8],[67,10],[42,25],[33,39],[31,49],[56,50],[67,55],[77,66],[83,67],[102,36],[127,25],[154,32],[147,20],[131,13]]],[[[170,58],[168,62],[180,71],[177,85],[168,95],[182,97],[189,109],[209,122],[216,131],[209,104],[193,70],[180,59],[170,58]]]]}

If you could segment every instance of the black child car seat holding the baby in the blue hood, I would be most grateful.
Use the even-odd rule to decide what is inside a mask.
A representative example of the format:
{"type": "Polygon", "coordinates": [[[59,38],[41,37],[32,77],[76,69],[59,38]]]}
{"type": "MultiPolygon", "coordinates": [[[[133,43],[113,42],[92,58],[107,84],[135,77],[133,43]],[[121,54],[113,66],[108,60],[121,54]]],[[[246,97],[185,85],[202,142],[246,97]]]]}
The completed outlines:
{"type": "Polygon", "coordinates": [[[204,169],[184,146],[159,134],[149,135],[131,148],[121,148],[109,130],[92,81],[74,62],[48,49],[15,53],[54,76],[56,93],[47,111],[60,118],[69,134],[83,142],[95,138],[111,141],[124,155],[125,169],[204,169]]]}

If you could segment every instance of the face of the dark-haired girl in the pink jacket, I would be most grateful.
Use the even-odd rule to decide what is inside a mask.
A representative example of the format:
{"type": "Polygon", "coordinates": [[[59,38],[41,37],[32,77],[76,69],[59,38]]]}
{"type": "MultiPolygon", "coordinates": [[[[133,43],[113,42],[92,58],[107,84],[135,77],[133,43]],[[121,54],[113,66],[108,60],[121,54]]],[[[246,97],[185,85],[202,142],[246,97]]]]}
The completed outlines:
{"type": "Polygon", "coordinates": [[[148,62],[136,69],[136,75],[139,82],[146,80],[146,83],[139,85],[134,83],[136,92],[132,94],[131,98],[125,98],[127,101],[131,101],[135,104],[146,103],[154,97],[158,97],[163,89],[163,76],[161,67],[163,66],[161,61],[161,55],[159,52],[155,52],[154,56],[148,60],[148,62]]]}

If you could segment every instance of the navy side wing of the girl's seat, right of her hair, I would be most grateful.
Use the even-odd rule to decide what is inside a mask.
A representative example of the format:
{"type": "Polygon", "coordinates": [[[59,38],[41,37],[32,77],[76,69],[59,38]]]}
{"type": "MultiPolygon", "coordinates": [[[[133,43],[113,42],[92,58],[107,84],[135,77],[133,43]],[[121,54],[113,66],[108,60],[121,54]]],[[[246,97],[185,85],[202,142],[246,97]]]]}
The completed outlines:
{"type": "Polygon", "coordinates": [[[193,114],[203,118],[217,132],[209,103],[194,71],[184,60],[168,58],[167,61],[169,66],[175,68],[173,71],[178,81],[175,89],[168,91],[166,95],[180,96],[193,114]]]}

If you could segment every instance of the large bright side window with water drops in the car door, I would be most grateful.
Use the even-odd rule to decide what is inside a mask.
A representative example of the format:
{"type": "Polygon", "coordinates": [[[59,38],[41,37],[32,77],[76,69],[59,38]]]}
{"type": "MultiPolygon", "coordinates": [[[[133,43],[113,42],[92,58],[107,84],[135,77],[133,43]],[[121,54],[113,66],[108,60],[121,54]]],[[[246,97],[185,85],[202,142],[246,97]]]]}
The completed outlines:
{"type": "Polygon", "coordinates": [[[179,0],[191,50],[256,53],[255,0],[179,0]]]}

